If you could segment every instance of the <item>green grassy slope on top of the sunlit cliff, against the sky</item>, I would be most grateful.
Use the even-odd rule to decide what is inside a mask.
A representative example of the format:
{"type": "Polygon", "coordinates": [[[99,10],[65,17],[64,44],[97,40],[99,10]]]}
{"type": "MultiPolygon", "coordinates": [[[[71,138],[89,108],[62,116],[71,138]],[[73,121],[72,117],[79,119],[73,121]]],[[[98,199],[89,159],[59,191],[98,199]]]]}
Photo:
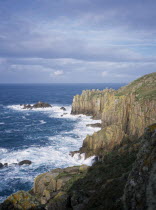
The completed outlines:
{"type": "Polygon", "coordinates": [[[134,93],[137,99],[156,99],[156,72],[134,80],[129,85],[120,88],[116,96],[134,93]]]}

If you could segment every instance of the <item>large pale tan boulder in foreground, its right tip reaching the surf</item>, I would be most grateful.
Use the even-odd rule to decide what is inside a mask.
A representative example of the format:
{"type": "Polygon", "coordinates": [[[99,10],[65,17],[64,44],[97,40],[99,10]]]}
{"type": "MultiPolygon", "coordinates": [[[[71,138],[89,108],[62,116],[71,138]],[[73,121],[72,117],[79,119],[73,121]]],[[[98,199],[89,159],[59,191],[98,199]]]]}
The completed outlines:
{"type": "MultiPolygon", "coordinates": [[[[73,182],[76,179],[81,178],[83,174],[86,173],[88,168],[89,167],[85,165],[73,166],[65,169],[58,168],[50,172],[40,174],[35,178],[33,192],[37,196],[41,204],[47,204],[51,199],[58,197],[60,198],[60,196],[61,200],[62,199],[64,200],[64,198],[66,200],[66,196],[65,197],[63,196],[62,198],[62,193],[61,195],[59,193],[67,192],[68,189],[72,186],[73,182]]],[[[57,200],[54,199],[54,203],[56,201],[58,201],[58,199],[57,200]]],[[[52,203],[50,204],[50,206],[52,205],[52,203]]]]}

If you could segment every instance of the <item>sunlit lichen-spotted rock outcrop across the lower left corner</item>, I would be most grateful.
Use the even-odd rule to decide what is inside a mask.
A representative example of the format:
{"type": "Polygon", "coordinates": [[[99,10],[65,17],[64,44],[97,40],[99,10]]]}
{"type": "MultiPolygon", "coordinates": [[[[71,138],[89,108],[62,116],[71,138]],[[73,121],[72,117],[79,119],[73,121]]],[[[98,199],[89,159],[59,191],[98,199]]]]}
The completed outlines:
{"type": "Polygon", "coordinates": [[[19,191],[9,196],[0,209],[71,209],[69,189],[75,181],[86,175],[88,169],[88,166],[82,165],[40,174],[35,178],[30,192],[19,191]]]}

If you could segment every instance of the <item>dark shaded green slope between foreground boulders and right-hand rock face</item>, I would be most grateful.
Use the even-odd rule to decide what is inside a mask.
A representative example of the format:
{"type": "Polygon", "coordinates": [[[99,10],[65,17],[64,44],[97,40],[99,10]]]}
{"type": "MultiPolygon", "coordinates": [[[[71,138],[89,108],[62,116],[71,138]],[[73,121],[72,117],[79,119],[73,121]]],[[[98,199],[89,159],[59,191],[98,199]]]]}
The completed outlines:
{"type": "MultiPolygon", "coordinates": [[[[136,160],[138,140],[124,142],[94,164],[84,177],[76,177],[68,193],[76,199],[89,198],[85,209],[122,209],[121,196],[132,164],[136,160]]],[[[71,180],[70,180],[71,181],[71,180]]]]}

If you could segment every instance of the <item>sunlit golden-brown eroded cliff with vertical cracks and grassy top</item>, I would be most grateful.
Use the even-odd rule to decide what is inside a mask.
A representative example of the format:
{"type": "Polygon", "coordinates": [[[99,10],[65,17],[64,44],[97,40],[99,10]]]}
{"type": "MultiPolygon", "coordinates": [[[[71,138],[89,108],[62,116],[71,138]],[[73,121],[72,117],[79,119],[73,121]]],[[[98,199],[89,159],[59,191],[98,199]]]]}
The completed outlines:
{"type": "Polygon", "coordinates": [[[156,122],[155,86],[156,73],[153,73],[118,91],[87,90],[75,96],[72,114],[87,114],[102,120],[102,130],[87,136],[80,151],[88,157],[104,151],[106,142],[116,145],[125,137],[133,140],[141,136],[145,127],[156,122]]]}

